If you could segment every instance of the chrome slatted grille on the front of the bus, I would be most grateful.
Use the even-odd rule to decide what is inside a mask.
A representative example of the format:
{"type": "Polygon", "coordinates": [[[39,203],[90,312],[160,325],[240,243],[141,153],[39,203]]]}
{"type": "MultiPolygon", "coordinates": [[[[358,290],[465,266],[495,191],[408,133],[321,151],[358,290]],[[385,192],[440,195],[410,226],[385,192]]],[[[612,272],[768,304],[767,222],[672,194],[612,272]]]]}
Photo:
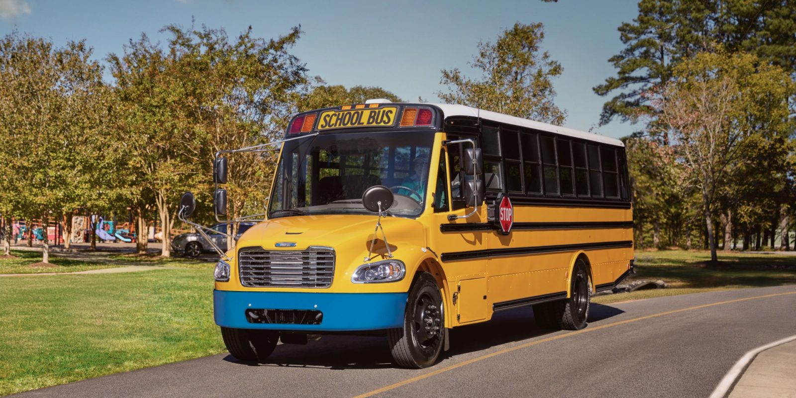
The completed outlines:
{"type": "Polygon", "coordinates": [[[240,283],[246,287],[330,287],[334,278],[334,249],[238,251],[240,283]]]}

